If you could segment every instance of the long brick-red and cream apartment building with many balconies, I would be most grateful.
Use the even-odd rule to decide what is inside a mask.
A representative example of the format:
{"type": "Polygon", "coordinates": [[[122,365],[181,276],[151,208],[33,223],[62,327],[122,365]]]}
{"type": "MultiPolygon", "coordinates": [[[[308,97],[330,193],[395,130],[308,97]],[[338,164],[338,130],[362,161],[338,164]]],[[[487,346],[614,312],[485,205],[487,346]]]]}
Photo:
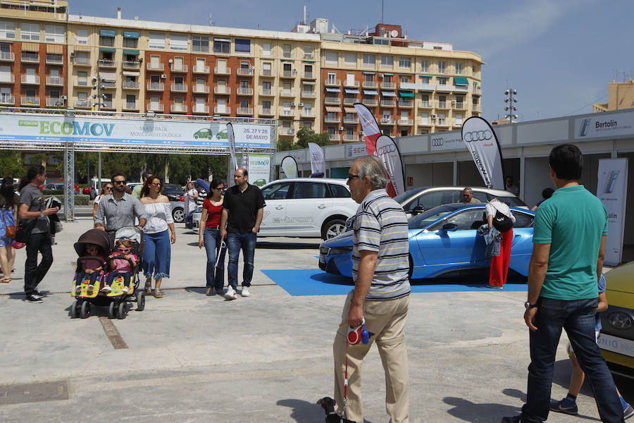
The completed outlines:
{"type": "Polygon", "coordinates": [[[355,102],[399,136],[480,113],[480,56],[411,41],[399,25],[350,35],[316,19],[278,32],[72,15],[59,0],[6,5],[1,106],[275,118],[279,137],[308,127],[337,142],[361,138],[355,102]]]}

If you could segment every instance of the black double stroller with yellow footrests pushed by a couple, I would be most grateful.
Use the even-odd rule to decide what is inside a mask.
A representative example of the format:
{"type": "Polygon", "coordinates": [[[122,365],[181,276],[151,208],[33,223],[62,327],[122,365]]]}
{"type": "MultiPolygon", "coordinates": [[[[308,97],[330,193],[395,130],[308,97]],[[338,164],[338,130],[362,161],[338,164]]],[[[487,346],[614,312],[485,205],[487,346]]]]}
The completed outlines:
{"type": "MultiPolygon", "coordinates": [[[[131,302],[137,303],[140,312],[145,308],[145,292],[139,290],[139,272],[143,255],[143,231],[135,226],[120,228],[114,238],[101,229],[91,229],[83,233],[77,243],[77,269],[73,278],[73,290],[70,295],[75,302],[70,308],[70,316],[85,319],[90,315],[91,306],[108,307],[108,317],[125,319],[131,302]],[[135,255],[135,262],[130,262],[132,272],[127,275],[111,273],[111,254],[116,254],[117,242],[128,240],[132,243],[130,255],[135,255]],[[99,247],[99,254],[94,252],[99,247]],[[88,248],[93,252],[91,255],[88,248]],[[85,271],[85,264],[90,264],[91,273],[85,271]],[[97,266],[101,264],[100,266],[97,266]],[[106,283],[109,283],[106,286],[106,283]]],[[[121,261],[122,259],[118,259],[121,261]]]]}

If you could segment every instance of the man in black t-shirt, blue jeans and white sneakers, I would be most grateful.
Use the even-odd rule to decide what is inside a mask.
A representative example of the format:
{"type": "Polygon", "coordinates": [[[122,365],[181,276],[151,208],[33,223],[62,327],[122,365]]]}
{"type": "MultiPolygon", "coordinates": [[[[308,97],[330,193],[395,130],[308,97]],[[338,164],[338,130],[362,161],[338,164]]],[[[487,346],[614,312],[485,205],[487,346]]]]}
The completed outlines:
{"type": "Polygon", "coordinates": [[[253,259],[257,233],[260,230],[264,214],[264,197],[260,188],[249,184],[247,169],[238,168],[233,174],[235,185],[225,192],[223,214],[220,219],[220,236],[227,239],[229,250],[229,288],[225,298],[235,300],[237,290],[237,268],[240,250],[244,251],[244,270],[242,271],[242,291],[240,295],[248,297],[251,278],[253,278],[253,259]]]}

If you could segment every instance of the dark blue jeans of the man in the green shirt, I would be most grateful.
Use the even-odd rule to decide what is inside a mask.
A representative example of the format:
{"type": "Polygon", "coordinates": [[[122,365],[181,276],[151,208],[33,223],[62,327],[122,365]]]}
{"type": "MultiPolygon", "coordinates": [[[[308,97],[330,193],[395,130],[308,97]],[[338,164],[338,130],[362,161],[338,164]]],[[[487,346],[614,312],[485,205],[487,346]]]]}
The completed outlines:
{"type": "Polygon", "coordinates": [[[522,422],[544,422],[548,417],[555,353],[566,329],[583,372],[595,394],[602,422],[623,422],[623,407],[612,375],[595,340],[597,298],[553,300],[540,297],[535,326],[530,331],[528,393],[522,407],[522,422]]]}

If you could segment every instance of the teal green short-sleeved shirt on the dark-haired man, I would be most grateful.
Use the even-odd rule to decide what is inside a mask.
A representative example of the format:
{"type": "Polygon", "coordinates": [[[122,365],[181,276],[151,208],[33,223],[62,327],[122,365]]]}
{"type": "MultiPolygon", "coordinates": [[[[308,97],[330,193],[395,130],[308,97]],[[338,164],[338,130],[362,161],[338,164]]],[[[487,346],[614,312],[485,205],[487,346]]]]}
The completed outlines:
{"type": "Polygon", "coordinates": [[[559,188],[535,212],[533,243],[550,244],[540,295],[555,300],[599,296],[597,259],[607,235],[607,212],[583,185],[559,188]]]}

